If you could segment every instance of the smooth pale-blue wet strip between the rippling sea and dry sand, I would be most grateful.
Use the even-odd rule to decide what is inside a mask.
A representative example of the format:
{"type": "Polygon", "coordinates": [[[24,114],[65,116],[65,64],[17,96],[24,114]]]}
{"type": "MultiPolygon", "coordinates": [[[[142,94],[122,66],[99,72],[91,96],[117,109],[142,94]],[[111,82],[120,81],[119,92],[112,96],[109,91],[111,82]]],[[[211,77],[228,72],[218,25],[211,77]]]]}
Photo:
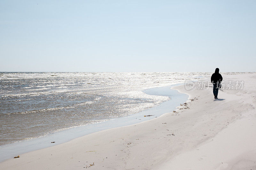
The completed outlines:
{"type": "Polygon", "coordinates": [[[0,146],[0,152],[1,152],[0,163],[14,157],[13,155],[20,155],[20,154],[36,151],[39,149],[55,146],[58,144],[66,143],[75,138],[83,137],[85,135],[98,132],[101,130],[134,125],[140,122],[145,122],[145,121],[154,119],[156,116],[159,117],[160,115],[163,115],[164,113],[168,112],[170,109],[175,109],[175,107],[180,102],[186,101],[187,99],[186,95],[180,92],[175,92],[174,90],[171,89],[171,87],[177,86],[177,85],[180,85],[180,84],[163,86],[163,87],[155,87],[155,88],[150,88],[143,91],[149,95],[168,96],[170,97],[170,99],[160,103],[155,107],[148,108],[139,113],[135,113],[135,114],[124,116],[124,117],[112,118],[105,122],[88,124],[80,127],[73,127],[73,128],[61,130],[52,134],[47,134],[42,137],[35,137],[32,139],[23,140],[20,142],[1,145],[0,146]],[[167,106],[167,105],[170,105],[170,106],[167,106]],[[143,117],[144,115],[152,115],[152,114],[155,114],[155,115],[143,117]],[[55,143],[51,143],[53,141],[55,143]],[[10,150],[12,152],[10,152],[10,150]]]}

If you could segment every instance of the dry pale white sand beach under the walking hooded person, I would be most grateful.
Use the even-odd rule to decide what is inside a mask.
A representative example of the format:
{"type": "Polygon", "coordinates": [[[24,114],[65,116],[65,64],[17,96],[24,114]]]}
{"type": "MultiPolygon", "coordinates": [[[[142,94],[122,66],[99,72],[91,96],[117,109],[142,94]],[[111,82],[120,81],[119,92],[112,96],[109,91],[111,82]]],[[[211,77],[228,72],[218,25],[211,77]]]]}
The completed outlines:
{"type": "Polygon", "coordinates": [[[178,113],[22,154],[0,169],[83,169],[93,162],[91,169],[256,169],[256,74],[223,79],[244,80],[244,89],[219,91],[225,100],[214,101],[211,87],[174,87],[198,100],[178,113]]]}

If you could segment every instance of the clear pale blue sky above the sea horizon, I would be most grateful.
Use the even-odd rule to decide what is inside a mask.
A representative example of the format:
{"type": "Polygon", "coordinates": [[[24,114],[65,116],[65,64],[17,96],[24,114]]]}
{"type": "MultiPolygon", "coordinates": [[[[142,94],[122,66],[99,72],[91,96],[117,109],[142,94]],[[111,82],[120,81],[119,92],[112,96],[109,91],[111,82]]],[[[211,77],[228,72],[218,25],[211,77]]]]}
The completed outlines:
{"type": "Polygon", "coordinates": [[[0,71],[256,71],[256,1],[0,1],[0,71]]]}

